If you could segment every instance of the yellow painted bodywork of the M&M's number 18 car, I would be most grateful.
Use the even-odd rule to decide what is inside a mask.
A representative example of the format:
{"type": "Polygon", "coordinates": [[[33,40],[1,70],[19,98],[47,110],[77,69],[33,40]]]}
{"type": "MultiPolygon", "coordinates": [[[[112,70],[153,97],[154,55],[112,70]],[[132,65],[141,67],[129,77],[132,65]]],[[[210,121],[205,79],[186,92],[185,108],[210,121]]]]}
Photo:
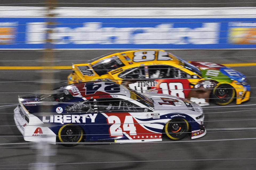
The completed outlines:
{"type": "MultiPolygon", "coordinates": [[[[150,49],[147,49],[147,50],[150,50],[150,49]]],[[[120,73],[122,73],[126,69],[130,69],[130,68],[134,68],[134,67],[139,67],[139,66],[144,66],[144,65],[145,66],[150,66],[150,65],[170,65],[170,66],[179,68],[180,70],[184,71],[185,73],[187,73],[189,75],[195,75],[195,73],[193,73],[189,69],[186,69],[184,66],[182,66],[181,61],[179,61],[174,55],[171,55],[170,53],[169,53],[169,57],[171,57],[172,60],[157,60],[158,52],[159,51],[165,52],[164,50],[154,50],[156,52],[154,54],[155,55],[155,59],[152,60],[152,61],[134,62],[134,60],[133,60],[133,58],[135,57],[134,56],[134,52],[136,52],[136,51],[145,51],[145,50],[132,50],[132,51],[126,51],[126,52],[121,52],[121,53],[114,53],[114,54],[111,54],[109,56],[100,58],[97,61],[93,61],[92,63],[74,64],[72,66],[73,73],[69,74],[69,76],[68,76],[68,84],[73,84],[73,83],[78,83],[78,82],[86,82],[86,81],[92,81],[92,80],[112,80],[112,81],[114,81],[116,83],[121,84],[123,79],[118,77],[118,75],[120,73]],[[130,61],[132,62],[132,64],[129,64],[127,59],[122,55],[123,53],[125,53],[126,56],[128,56],[130,58],[130,61]],[[94,74],[95,74],[94,76],[82,75],[82,73],[80,72],[80,70],[77,67],[77,66],[89,66],[90,70],[93,70],[91,65],[94,65],[95,63],[100,62],[101,60],[104,60],[106,58],[110,58],[112,56],[118,56],[119,59],[123,62],[123,64],[125,66],[113,69],[113,70],[109,71],[108,73],[106,73],[104,75],[101,75],[101,76],[99,76],[97,73],[95,73],[95,71],[94,71],[94,74]],[[115,70],[122,70],[122,71],[119,71],[119,72],[117,72],[115,74],[111,74],[111,72],[115,71],[115,70]]],[[[243,64],[245,64],[245,63],[243,63],[243,64]]],[[[248,64],[250,64],[250,63],[248,63],[248,64]]],[[[226,64],[226,65],[228,65],[228,64],[226,64]]],[[[198,78],[199,79],[187,79],[187,80],[190,83],[191,82],[199,82],[200,80],[205,80],[204,78],[200,77],[199,75],[198,75],[198,78]]],[[[235,91],[236,91],[236,95],[234,97],[237,97],[239,92],[243,92],[243,96],[239,97],[239,98],[237,97],[237,99],[236,99],[236,104],[241,104],[242,102],[249,100],[250,91],[244,91],[245,87],[243,87],[242,85],[235,84],[235,82],[237,82],[237,81],[234,80],[231,83],[229,83],[229,82],[221,82],[219,84],[224,84],[225,83],[225,84],[230,84],[232,87],[234,87],[235,91]]],[[[194,83],[192,83],[192,84],[194,84],[194,83]]]]}

